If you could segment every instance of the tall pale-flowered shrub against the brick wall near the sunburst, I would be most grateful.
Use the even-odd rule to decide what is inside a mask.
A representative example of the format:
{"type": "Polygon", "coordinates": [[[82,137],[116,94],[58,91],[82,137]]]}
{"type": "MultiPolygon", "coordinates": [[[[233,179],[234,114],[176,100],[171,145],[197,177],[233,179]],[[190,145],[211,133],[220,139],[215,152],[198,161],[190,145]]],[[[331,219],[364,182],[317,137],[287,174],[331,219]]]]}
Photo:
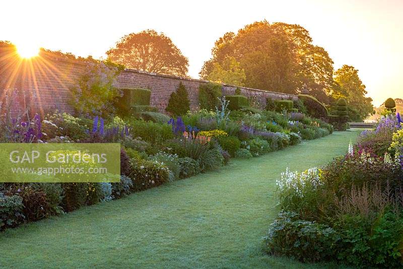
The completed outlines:
{"type": "Polygon", "coordinates": [[[89,63],[70,89],[72,99],[70,104],[80,115],[99,115],[108,117],[115,112],[114,102],[121,96],[116,85],[119,74],[117,68],[111,68],[105,63],[89,63]]]}

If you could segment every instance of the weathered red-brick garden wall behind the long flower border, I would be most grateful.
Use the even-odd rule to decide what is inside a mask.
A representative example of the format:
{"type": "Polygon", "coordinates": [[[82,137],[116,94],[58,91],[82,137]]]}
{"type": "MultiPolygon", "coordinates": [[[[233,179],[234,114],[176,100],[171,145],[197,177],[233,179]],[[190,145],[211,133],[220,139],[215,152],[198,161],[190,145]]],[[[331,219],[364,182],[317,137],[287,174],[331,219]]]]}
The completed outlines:
{"type": "MultiPolygon", "coordinates": [[[[87,68],[83,61],[49,56],[36,57],[32,61],[19,66],[0,62],[0,89],[32,90],[36,93],[37,103],[44,111],[58,109],[73,112],[68,104],[70,99],[69,88],[74,85],[82,71],[87,68]],[[11,67],[12,66],[12,67],[11,67]]],[[[198,108],[198,87],[207,81],[181,78],[126,69],[118,78],[120,88],[148,88],[152,91],[151,105],[164,112],[169,96],[182,82],[188,91],[191,109],[198,108]]],[[[234,94],[237,87],[223,85],[223,94],[234,94]]],[[[258,89],[239,87],[243,95],[256,96],[261,106],[265,106],[266,97],[273,99],[297,99],[295,95],[268,92],[258,89]]]]}

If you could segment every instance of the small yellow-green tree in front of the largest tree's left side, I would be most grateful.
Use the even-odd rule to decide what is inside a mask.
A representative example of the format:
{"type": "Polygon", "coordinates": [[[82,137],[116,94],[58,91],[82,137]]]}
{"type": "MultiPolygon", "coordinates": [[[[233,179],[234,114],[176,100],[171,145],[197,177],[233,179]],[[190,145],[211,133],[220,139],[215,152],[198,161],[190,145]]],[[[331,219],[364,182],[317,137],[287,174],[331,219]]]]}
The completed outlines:
{"type": "Polygon", "coordinates": [[[222,65],[219,62],[213,63],[213,70],[206,79],[218,83],[244,86],[246,75],[245,71],[241,69],[240,63],[234,57],[228,56],[222,65]]]}

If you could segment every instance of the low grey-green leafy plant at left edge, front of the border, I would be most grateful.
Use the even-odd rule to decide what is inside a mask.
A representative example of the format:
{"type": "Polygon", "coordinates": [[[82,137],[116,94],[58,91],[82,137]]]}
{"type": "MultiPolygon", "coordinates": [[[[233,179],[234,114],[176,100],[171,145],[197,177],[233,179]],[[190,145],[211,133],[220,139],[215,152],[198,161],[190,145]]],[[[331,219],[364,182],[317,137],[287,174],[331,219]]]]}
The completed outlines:
{"type": "Polygon", "coordinates": [[[5,195],[0,191],[0,230],[15,227],[24,221],[22,198],[19,195],[5,195]]]}

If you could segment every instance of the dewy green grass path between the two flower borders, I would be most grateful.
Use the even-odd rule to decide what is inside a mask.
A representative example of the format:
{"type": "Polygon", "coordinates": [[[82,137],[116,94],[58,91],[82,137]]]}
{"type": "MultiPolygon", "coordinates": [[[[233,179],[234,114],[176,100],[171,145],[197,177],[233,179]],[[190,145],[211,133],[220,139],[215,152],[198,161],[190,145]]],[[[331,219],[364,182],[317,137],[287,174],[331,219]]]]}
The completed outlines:
{"type": "Polygon", "coordinates": [[[215,172],[0,234],[0,267],[323,267],[261,253],[276,178],[321,166],[359,131],[335,132],[215,172]]]}

